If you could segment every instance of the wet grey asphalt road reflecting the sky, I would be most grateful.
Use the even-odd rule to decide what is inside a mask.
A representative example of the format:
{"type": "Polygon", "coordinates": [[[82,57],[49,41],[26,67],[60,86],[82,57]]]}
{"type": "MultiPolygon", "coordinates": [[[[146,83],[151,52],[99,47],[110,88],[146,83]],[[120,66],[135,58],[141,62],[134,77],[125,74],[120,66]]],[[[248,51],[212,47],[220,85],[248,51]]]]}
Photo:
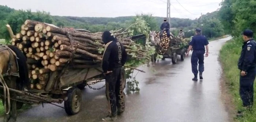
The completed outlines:
{"type": "MultiPolygon", "coordinates": [[[[125,112],[117,122],[228,122],[228,112],[221,100],[221,66],[218,54],[230,37],[212,41],[209,57],[205,58],[203,81],[192,81],[189,57],[173,65],[170,59],[159,61],[155,67],[142,66],[138,73],[140,92],[127,94],[125,112]]],[[[135,73],[137,73],[135,71],[135,73]]],[[[104,83],[92,85],[99,88],[104,83]]],[[[82,110],[68,116],[65,110],[45,104],[18,115],[18,122],[100,122],[107,114],[105,88],[83,92],[82,110]]],[[[61,104],[64,106],[64,103],[61,104]]]]}

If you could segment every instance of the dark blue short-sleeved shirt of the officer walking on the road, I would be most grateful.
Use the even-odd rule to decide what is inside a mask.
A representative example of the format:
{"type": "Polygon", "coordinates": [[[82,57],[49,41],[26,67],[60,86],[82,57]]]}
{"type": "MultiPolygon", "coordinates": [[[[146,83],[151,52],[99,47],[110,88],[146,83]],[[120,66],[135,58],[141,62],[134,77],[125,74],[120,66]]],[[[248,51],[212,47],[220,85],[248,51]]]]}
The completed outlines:
{"type": "Polygon", "coordinates": [[[192,37],[192,40],[189,42],[189,45],[193,47],[193,50],[200,50],[205,51],[206,45],[208,45],[209,42],[205,36],[202,36],[200,34],[197,34],[192,37]]]}

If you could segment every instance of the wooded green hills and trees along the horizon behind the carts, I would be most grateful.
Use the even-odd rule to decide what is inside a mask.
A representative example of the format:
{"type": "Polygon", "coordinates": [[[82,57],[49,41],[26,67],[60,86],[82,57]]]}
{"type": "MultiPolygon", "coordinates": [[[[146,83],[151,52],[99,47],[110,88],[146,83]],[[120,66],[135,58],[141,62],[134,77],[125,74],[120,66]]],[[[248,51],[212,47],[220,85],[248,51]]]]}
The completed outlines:
{"type": "MultiPolygon", "coordinates": [[[[203,34],[207,38],[218,37],[224,34],[223,25],[219,21],[217,12],[207,13],[198,19],[180,19],[171,18],[171,28],[177,28],[172,31],[178,34],[182,29],[185,32],[185,37],[191,37],[195,34],[193,29],[202,27],[203,34]]],[[[58,27],[87,29],[91,32],[103,32],[105,30],[116,30],[127,28],[135,23],[138,17],[142,17],[148,23],[151,31],[160,31],[160,26],[163,23],[163,17],[155,17],[152,14],[139,14],[136,16],[124,17],[72,17],[72,16],[51,16],[49,12],[31,10],[15,10],[7,6],[0,5],[0,38],[10,39],[9,33],[5,27],[6,24],[11,25],[14,33],[20,31],[20,26],[25,20],[37,20],[49,24],[54,24],[58,27]]],[[[141,34],[137,31],[133,35],[141,34]]]]}

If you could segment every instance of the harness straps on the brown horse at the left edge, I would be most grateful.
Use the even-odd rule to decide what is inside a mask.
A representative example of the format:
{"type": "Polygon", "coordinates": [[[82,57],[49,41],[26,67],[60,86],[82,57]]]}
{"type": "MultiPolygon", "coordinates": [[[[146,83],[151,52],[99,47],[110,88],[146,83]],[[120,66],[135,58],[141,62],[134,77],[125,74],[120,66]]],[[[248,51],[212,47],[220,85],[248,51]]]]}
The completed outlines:
{"type": "MultiPolygon", "coordinates": [[[[4,110],[5,110],[5,114],[9,114],[11,111],[11,102],[10,102],[10,91],[9,88],[4,80],[4,77],[9,76],[9,80],[11,80],[11,76],[16,76],[19,77],[19,66],[18,66],[18,57],[16,56],[16,54],[13,52],[13,50],[11,50],[8,46],[6,45],[2,45],[0,44],[0,52],[3,50],[8,50],[9,51],[9,62],[8,62],[8,69],[7,72],[5,74],[0,74],[0,83],[3,85],[4,88],[4,110]],[[16,67],[17,67],[17,73],[13,73],[11,68],[13,66],[12,62],[11,62],[11,54],[13,54],[15,56],[15,61],[16,61],[16,67]],[[7,99],[6,99],[7,98],[7,99]],[[8,111],[7,111],[7,106],[6,106],[6,102],[8,103],[8,111]]],[[[2,71],[3,72],[3,71],[2,71]]],[[[16,81],[15,81],[16,82],[16,81]]]]}

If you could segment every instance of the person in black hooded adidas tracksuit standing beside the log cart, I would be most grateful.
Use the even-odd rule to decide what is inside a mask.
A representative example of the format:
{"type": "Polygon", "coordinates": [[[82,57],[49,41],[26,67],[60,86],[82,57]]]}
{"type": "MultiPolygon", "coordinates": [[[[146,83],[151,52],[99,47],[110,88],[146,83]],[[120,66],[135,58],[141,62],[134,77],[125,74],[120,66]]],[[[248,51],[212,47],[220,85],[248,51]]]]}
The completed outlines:
{"type": "Polygon", "coordinates": [[[102,70],[106,76],[106,97],[108,100],[108,116],[104,121],[117,120],[117,114],[124,111],[124,93],[122,85],[122,66],[127,60],[127,52],[121,42],[117,41],[110,31],[102,34],[105,49],[102,58],[102,70]]]}

